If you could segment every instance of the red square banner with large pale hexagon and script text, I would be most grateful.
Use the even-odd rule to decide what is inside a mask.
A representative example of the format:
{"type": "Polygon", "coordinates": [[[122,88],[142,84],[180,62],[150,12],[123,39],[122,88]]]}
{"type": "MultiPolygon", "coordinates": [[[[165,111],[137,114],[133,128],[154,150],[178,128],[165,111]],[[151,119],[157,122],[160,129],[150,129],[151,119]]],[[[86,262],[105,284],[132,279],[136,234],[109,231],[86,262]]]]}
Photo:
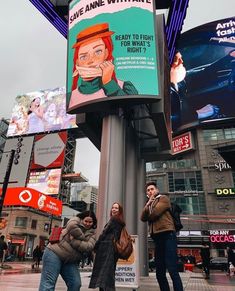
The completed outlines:
{"type": "Polygon", "coordinates": [[[31,170],[62,167],[66,142],[66,131],[37,135],[34,142],[31,170]]]}

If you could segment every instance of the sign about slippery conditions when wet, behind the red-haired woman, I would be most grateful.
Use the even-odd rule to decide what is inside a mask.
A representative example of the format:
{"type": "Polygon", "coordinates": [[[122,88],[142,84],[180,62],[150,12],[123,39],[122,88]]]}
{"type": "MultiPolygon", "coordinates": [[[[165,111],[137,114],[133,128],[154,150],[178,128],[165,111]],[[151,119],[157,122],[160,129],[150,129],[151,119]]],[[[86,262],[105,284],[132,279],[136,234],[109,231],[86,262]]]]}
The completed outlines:
{"type": "Polygon", "coordinates": [[[136,289],[139,287],[139,241],[137,235],[131,236],[133,252],[128,260],[119,259],[115,272],[115,286],[136,289]]]}

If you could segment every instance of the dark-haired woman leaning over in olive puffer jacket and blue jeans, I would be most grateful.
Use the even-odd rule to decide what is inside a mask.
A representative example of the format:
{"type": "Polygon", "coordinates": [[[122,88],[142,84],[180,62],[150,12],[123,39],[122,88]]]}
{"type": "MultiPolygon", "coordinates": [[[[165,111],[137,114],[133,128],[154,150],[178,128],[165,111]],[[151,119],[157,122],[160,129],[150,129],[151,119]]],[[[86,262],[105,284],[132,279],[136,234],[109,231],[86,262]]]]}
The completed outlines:
{"type": "Polygon", "coordinates": [[[92,211],[79,213],[68,221],[62,230],[60,241],[49,243],[44,251],[39,291],[55,290],[59,275],[65,281],[68,291],[80,290],[78,261],[83,252],[94,249],[96,226],[96,216],[92,211]]]}

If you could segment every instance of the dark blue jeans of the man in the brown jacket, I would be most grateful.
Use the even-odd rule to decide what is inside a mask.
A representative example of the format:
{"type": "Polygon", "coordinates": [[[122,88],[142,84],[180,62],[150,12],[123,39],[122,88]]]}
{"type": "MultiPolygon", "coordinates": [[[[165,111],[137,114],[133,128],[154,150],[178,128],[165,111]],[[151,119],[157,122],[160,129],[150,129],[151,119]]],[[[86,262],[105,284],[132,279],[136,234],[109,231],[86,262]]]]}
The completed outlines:
{"type": "Polygon", "coordinates": [[[177,269],[177,240],[173,231],[153,236],[155,243],[156,277],[161,291],[170,291],[166,278],[168,270],[174,291],[183,291],[183,285],[177,269]]]}

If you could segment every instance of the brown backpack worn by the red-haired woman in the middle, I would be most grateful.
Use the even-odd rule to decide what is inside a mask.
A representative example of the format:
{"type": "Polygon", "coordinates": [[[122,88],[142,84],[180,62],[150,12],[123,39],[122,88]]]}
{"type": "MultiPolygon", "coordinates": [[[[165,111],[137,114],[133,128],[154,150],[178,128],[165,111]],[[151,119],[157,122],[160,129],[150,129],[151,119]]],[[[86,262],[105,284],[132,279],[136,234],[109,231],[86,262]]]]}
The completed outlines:
{"type": "Polygon", "coordinates": [[[114,241],[114,249],[119,259],[128,260],[132,254],[132,239],[125,227],[122,228],[119,240],[114,241]]]}

